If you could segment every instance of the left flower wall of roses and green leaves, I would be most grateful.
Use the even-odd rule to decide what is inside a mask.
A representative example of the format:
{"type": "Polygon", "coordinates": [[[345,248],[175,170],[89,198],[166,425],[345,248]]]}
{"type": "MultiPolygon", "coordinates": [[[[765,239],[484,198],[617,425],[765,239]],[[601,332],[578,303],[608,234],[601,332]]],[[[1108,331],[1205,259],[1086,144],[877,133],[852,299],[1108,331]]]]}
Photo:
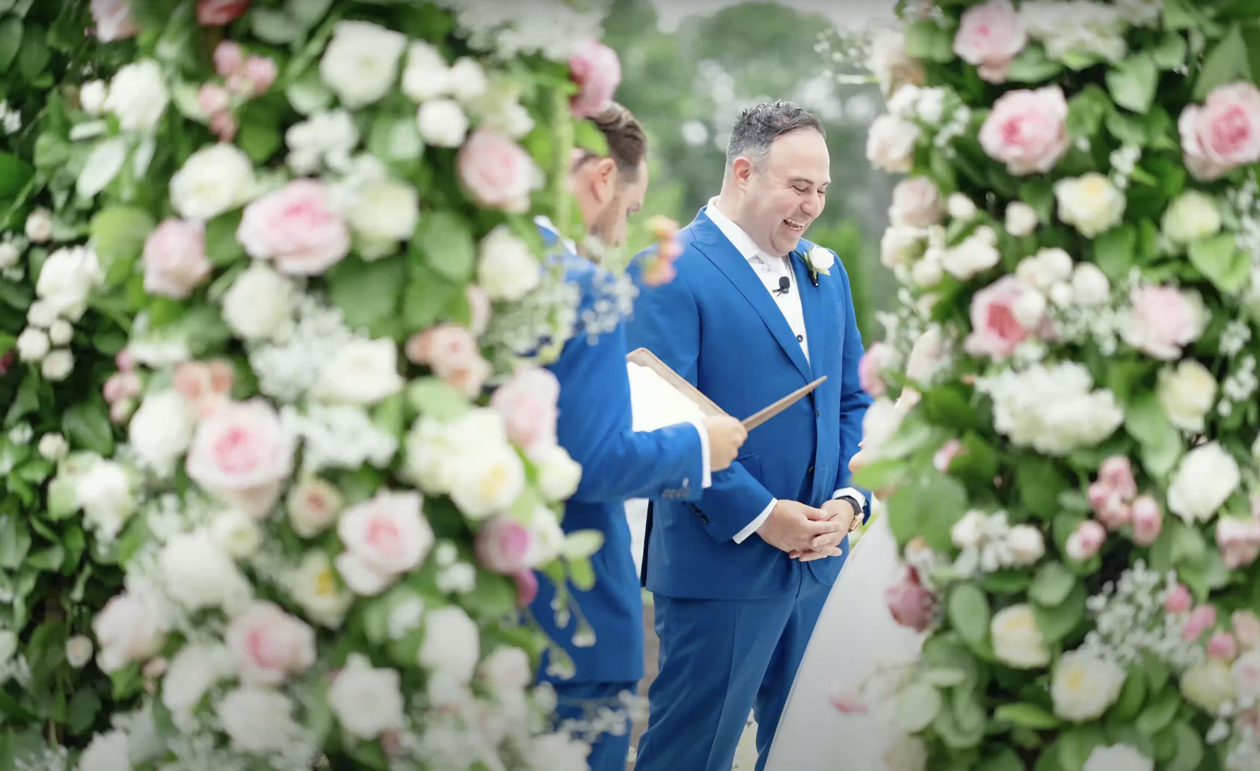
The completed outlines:
{"type": "Polygon", "coordinates": [[[598,9],[0,5],[5,767],[585,768],[522,608],[600,547],[532,222],[598,9]]]}

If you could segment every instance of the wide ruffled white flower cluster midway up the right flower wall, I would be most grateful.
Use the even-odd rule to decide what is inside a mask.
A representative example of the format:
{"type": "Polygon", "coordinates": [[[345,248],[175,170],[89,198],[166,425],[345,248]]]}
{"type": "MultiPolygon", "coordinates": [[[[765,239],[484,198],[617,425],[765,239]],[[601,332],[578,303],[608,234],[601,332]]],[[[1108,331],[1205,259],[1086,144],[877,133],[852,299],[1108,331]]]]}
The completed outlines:
{"type": "Polygon", "coordinates": [[[1089,370],[1075,362],[1005,370],[980,378],[975,388],[993,398],[999,433],[1046,455],[1092,447],[1124,422],[1115,394],[1094,389],[1089,370]]]}

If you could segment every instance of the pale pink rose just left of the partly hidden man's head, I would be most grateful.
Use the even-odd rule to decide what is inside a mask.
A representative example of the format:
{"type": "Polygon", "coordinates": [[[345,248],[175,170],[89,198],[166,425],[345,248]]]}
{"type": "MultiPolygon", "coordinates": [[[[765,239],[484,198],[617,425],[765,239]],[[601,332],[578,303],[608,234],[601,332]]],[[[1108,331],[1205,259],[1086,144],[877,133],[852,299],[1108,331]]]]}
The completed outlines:
{"type": "Polygon", "coordinates": [[[479,128],[464,142],[456,160],[460,181],[483,207],[523,214],[537,169],[520,145],[489,128],[479,128]]]}

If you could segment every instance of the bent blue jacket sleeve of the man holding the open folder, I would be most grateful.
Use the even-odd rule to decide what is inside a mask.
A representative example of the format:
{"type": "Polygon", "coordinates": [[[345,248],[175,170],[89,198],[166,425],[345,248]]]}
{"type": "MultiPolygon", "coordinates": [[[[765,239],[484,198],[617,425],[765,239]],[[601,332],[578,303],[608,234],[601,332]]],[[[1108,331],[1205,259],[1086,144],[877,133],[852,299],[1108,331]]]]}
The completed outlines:
{"type": "Polygon", "coordinates": [[[582,466],[572,500],[699,498],[708,466],[703,426],[631,427],[624,324],[593,343],[571,339],[552,372],[559,380],[557,438],[582,466]]]}

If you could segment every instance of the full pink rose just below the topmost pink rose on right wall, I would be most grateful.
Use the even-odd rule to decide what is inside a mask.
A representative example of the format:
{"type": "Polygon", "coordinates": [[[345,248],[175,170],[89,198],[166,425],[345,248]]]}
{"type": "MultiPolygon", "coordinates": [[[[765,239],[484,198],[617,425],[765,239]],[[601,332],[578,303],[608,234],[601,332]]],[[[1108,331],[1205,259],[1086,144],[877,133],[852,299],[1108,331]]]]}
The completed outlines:
{"type": "Polygon", "coordinates": [[[1058,86],[1008,91],[980,126],[989,157],[1017,176],[1045,174],[1067,151],[1067,100],[1058,86]]]}

